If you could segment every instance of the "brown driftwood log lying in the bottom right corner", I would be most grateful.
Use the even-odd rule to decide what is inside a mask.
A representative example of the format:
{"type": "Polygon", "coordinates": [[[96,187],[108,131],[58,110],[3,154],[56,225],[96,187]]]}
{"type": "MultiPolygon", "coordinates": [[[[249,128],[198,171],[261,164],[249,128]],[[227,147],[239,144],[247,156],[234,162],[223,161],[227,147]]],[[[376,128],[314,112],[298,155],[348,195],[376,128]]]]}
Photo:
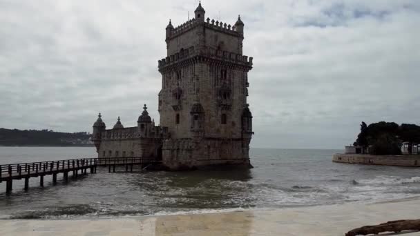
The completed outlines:
{"type": "Polygon", "coordinates": [[[350,230],[345,236],[356,236],[356,235],[370,235],[379,234],[384,232],[400,233],[404,230],[420,230],[420,219],[403,219],[396,220],[393,222],[386,222],[377,226],[363,226],[361,228],[355,228],[350,230]]]}

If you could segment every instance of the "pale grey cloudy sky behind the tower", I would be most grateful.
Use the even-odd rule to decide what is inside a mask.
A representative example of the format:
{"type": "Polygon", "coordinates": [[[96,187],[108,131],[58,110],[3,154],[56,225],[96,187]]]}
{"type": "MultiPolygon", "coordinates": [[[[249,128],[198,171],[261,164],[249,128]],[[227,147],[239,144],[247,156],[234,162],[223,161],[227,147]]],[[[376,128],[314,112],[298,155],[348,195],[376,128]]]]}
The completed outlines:
{"type": "MultiPolygon", "coordinates": [[[[0,0],[0,127],[158,120],[164,28],[198,1],[0,0]]],[[[245,23],[254,147],[342,148],[361,121],[420,124],[420,1],[202,1],[245,23]]]]}

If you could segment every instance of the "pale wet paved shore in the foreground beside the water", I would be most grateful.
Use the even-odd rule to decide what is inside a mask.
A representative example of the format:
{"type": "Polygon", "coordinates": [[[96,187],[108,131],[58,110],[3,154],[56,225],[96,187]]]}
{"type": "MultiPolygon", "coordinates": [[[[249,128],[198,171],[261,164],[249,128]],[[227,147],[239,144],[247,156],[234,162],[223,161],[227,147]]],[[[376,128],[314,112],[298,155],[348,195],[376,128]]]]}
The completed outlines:
{"type": "MultiPolygon", "coordinates": [[[[2,219],[0,235],[344,235],[353,228],[419,219],[420,197],[363,204],[257,208],[225,213],[2,219]]],[[[420,232],[408,235],[420,235],[420,232]]]]}

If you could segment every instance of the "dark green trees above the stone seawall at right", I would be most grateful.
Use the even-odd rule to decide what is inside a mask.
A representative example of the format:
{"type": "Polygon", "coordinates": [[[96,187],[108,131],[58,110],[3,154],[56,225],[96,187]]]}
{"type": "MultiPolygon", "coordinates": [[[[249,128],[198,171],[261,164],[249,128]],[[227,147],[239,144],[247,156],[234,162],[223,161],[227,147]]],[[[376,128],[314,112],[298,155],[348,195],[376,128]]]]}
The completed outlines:
{"type": "Polygon", "coordinates": [[[403,143],[408,145],[409,152],[412,146],[420,144],[420,126],[415,124],[399,126],[394,122],[385,121],[367,126],[365,122],[362,122],[361,132],[354,146],[361,146],[362,153],[372,155],[401,155],[403,143]]]}

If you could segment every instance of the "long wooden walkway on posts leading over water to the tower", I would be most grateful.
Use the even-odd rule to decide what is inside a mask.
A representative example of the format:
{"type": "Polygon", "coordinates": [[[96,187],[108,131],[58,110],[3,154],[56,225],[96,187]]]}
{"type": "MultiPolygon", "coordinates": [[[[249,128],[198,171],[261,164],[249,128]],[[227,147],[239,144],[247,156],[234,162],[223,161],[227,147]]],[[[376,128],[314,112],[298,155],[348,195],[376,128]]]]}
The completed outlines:
{"type": "Polygon", "coordinates": [[[12,190],[14,179],[25,179],[25,190],[29,188],[29,178],[39,177],[39,185],[44,186],[44,176],[53,175],[53,184],[57,183],[57,174],[63,173],[65,181],[68,181],[68,173],[73,172],[73,177],[80,174],[96,173],[97,166],[108,166],[108,172],[115,172],[116,166],[125,166],[126,171],[133,171],[133,166],[151,166],[159,164],[155,157],[106,157],[67,159],[60,161],[40,161],[20,164],[0,165],[0,183],[6,181],[6,193],[12,190]]]}

